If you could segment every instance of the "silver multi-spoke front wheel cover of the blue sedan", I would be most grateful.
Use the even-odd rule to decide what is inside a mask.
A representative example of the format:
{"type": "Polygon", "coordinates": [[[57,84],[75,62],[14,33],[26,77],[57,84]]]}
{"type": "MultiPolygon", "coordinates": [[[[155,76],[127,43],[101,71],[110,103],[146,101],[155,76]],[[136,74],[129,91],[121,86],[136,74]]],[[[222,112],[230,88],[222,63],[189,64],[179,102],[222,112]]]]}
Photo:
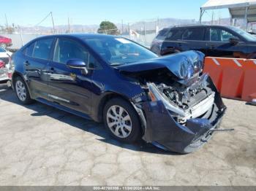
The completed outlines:
{"type": "Polygon", "coordinates": [[[127,138],[132,132],[132,120],[126,109],[121,106],[111,106],[107,112],[107,124],[111,132],[121,138],[127,138]]]}

